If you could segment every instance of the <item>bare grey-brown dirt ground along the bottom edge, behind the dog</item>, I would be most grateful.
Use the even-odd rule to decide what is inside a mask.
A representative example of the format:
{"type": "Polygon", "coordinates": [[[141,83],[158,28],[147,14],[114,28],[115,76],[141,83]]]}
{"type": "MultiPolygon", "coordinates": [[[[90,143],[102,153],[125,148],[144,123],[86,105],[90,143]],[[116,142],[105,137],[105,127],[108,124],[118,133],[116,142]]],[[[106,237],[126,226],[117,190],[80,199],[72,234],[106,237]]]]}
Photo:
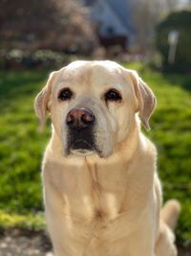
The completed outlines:
{"type": "MultiPolygon", "coordinates": [[[[179,256],[191,256],[191,247],[179,248],[179,256]]],[[[0,231],[0,256],[53,256],[45,231],[11,229],[0,231]]],[[[163,255],[165,256],[165,255],[163,255]]]]}

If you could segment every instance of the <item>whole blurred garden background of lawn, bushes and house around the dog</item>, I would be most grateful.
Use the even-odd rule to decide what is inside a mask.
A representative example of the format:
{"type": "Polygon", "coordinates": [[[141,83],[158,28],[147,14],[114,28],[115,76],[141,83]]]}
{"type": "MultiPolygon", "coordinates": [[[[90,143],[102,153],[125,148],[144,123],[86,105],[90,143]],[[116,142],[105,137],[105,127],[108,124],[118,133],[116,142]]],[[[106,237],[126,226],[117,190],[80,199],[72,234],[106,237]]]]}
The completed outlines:
{"type": "Polygon", "coordinates": [[[136,69],[158,99],[152,130],[164,200],[178,198],[180,255],[191,255],[191,1],[0,0],[0,256],[51,255],[32,105],[50,71],[75,59],[136,69]]]}

